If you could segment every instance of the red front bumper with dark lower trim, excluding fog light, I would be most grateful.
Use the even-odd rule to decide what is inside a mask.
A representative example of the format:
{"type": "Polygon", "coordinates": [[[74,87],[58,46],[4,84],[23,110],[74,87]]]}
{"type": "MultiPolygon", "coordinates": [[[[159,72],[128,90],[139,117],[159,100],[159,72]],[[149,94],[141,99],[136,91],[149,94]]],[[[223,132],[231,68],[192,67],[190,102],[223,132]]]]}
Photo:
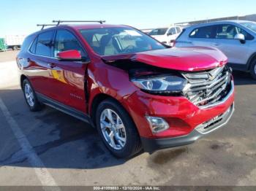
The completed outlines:
{"type": "Polygon", "coordinates": [[[146,152],[192,144],[226,125],[234,112],[234,90],[219,103],[198,107],[185,97],[149,95],[137,92],[128,98],[129,113],[140,133],[146,152]],[[154,132],[147,116],[163,119],[166,130],[154,132]]]}

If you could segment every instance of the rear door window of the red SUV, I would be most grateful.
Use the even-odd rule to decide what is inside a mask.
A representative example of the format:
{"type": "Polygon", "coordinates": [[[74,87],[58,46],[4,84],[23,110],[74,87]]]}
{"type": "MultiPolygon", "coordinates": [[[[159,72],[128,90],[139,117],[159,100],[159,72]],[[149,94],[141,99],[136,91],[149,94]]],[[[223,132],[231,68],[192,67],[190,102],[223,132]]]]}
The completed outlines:
{"type": "Polygon", "coordinates": [[[38,35],[35,50],[37,55],[51,56],[53,32],[48,31],[38,35]]]}

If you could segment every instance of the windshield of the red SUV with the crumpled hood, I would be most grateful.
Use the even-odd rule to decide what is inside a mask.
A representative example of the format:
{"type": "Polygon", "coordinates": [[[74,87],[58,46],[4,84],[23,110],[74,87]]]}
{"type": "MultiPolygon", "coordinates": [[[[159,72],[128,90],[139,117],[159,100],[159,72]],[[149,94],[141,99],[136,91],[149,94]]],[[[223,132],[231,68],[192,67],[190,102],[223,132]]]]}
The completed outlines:
{"type": "Polygon", "coordinates": [[[81,29],[80,33],[98,55],[120,55],[165,48],[133,28],[81,29]]]}

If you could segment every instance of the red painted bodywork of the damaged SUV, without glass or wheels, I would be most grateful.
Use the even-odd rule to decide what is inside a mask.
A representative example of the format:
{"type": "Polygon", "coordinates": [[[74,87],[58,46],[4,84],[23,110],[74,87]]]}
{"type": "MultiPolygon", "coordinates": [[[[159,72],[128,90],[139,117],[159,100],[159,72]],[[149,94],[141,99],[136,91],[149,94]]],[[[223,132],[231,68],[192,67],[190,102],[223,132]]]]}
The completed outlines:
{"type": "MultiPolygon", "coordinates": [[[[132,59],[151,66],[179,71],[213,69],[227,63],[227,58],[217,49],[205,47],[172,48],[138,52],[136,54],[100,57],[82,38],[78,30],[85,28],[120,27],[110,25],[58,26],[44,31],[65,28],[74,34],[89,55],[90,63],[60,61],[20,51],[27,59],[20,73],[29,78],[37,93],[91,115],[92,102],[99,94],[116,99],[134,120],[140,136],[166,138],[184,136],[195,126],[225,112],[233,104],[234,94],[221,105],[200,109],[185,97],[159,96],[143,93],[129,81],[126,71],[110,66],[104,60],[132,59]],[[85,82],[86,85],[85,85],[85,82]],[[88,93],[88,97],[86,97],[88,93]],[[88,100],[86,100],[88,98],[88,100]],[[145,115],[164,117],[170,124],[168,130],[153,135],[145,115]]],[[[127,27],[127,26],[121,26],[127,27]]],[[[127,27],[128,28],[128,27],[127,27]]],[[[38,33],[34,34],[37,35],[38,33]]],[[[78,51],[60,52],[61,58],[78,58],[78,51]]]]}

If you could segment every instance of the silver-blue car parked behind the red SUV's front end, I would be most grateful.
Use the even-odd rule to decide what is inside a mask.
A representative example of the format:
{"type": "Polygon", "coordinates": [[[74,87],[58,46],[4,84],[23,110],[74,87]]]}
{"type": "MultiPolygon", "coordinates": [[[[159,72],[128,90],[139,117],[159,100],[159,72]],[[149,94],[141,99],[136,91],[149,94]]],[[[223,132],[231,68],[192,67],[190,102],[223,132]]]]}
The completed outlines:
{"type": "Polygon", "coordinates": [[[233,69],[249,71],[256,79],[255,22],[228,20],[190,26],[178,36],[175,46],[217,47],[233,69]]]}

